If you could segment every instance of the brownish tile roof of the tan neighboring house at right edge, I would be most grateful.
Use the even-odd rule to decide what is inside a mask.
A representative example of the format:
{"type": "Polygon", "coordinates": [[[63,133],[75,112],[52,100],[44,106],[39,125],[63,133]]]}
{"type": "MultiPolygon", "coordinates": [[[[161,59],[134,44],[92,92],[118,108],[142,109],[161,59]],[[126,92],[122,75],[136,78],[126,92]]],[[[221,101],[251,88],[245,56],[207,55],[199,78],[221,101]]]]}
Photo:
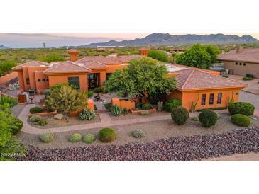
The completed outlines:
{"type": "Polygon", "coordinates": [[[218,59],[223,61],[259,63],[259,49],[240,48],[239,50],[231,50],[229,52],[220,54],[218,59]]]}

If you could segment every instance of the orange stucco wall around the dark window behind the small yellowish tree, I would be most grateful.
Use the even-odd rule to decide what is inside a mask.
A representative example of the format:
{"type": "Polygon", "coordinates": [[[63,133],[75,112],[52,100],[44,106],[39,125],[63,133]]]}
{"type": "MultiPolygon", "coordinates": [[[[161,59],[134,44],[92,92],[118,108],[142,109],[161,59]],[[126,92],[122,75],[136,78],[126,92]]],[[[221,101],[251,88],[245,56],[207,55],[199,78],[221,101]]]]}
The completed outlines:
{"type": "Polygon", "coordinates": [[[87,74],[50,75],[48,76],[49,85],[54,86],[56,84],[67,84],[69,76],[79,76],[80,90],[87,92],[87,74]]]}

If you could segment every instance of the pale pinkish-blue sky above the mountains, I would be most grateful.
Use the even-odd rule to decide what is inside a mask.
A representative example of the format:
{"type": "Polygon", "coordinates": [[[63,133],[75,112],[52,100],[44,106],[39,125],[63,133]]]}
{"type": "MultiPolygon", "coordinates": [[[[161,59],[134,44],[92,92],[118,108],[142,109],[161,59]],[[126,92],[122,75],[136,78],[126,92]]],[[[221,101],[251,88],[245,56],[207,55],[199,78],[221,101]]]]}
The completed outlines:
{"type": "MultiPolygon", "coordinates": [[[[78,46],[95,42],[108,42],[109,40],[132,40],[144,38],[150,33],[0,33],[0,45],[6,47],[46,47],[78,46]]],[[[186,33],[170,33],[172,35],[186,33]]],[[[211,34],[211,33],[189,33],[211,34]]],[[[252,35],[259,39],[259,33],[224,33],[233,35],[252,35]]]]}

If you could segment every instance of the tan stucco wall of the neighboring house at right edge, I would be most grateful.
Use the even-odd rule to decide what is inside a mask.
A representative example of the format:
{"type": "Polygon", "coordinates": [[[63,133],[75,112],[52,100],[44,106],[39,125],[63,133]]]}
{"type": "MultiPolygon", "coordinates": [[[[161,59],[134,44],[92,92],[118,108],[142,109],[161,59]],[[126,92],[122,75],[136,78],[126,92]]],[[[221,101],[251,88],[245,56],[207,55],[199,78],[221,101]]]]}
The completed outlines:
{"type": "Polygon", "coordinates": [[[233,69],[233,74],[246,76],[246,74],[253,74],[256,78],[259,78],[259,64],[253,64],[248,62],[224,62],[226,69],[233,69]],[[240,65],[241,63],[241,65],[240,65]],[[246,66],[243,64],[246,63],[246,66]]]}

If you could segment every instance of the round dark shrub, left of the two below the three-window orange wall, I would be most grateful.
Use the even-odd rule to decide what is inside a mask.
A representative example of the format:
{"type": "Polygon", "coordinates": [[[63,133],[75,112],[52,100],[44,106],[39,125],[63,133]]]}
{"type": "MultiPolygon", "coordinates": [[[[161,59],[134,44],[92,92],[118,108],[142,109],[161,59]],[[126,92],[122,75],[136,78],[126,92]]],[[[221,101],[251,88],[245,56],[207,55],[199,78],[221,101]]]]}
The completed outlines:
{"type": "Polygon", "coordinates": [[[177,125],[183,125],[189,118],[189,111],[186,108],[179,106],[172,109],[171,118],[177,125]]]}

